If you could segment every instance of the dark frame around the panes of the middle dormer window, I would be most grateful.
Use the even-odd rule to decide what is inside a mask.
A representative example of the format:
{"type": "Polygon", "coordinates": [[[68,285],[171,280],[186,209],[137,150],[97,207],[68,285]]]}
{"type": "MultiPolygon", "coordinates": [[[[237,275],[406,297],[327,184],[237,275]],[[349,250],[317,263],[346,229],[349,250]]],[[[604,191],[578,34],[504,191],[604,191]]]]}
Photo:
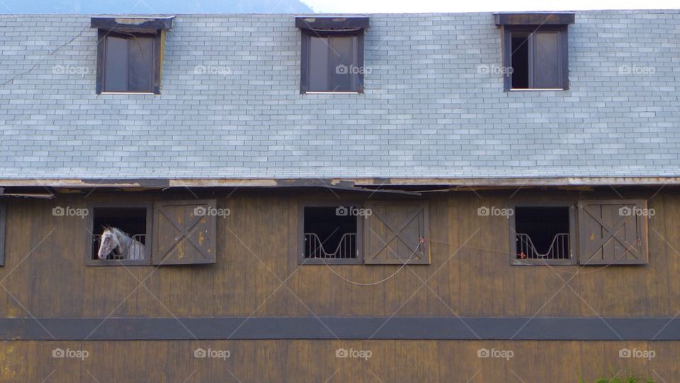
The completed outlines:
{"type": "MultiPolygon", "coordinates": [[[[356,42],[356,67],[361,70],[364,69],[364,45],[363,45],[363,29],[336,32],[336,31],[323,31],[323,30],[312,30],[312,29],[301,29],[301,47],[300,47],[300,94],[314,94],[314,93],[341,93],[341,94],[363,94],[363,71],[356,75],[356,87],[355,90],[349,91],[334,91],[334,90],[310,90],[310,45],[312,37],[318,38],[329,38],[329,37],[355,37],[356,42]]],[[[329,62],[329,65],[330,62],[329,62]]],[[[331,70],[331,67],[327,67],[327,70],[331,70]]],[[[328,72],[327,74],[330,74],[328,72]]]]}

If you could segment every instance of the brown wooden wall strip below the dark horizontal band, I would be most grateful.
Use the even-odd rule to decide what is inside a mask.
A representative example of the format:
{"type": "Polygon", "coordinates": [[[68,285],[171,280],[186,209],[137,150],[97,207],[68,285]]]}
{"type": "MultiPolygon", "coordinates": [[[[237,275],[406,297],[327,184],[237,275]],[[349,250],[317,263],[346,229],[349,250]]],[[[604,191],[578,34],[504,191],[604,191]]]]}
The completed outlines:
{"type": "Polygon", "coordinates": [[[250,340],[0,343],[1,382],[594,382],[601,372],[678,382],[678,342],[250,340]],[[52,350],[86,350],[84,360],[52,350]],[[193,350],[229,350],[226,360],[193,350]],[[336,350],[369,350],[368,360],[336,350]],[[480,358],[480,348],[513,357],[480,358]],[[621,348],[655,357],[620,358],[621,348]]]}

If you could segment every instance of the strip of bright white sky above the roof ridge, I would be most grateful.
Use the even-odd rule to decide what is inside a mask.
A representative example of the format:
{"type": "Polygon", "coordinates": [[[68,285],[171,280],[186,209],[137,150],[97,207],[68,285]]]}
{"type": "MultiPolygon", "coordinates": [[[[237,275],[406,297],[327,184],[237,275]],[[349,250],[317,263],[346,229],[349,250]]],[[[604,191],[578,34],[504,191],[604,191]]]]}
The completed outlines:
{"type": "MultiPolygon", "coordinates": [[[[282,0],[285,1],[285,0],[282,0]]],[[[302,0],[322,13],[680,9],[680,0],[302,0]]]]}

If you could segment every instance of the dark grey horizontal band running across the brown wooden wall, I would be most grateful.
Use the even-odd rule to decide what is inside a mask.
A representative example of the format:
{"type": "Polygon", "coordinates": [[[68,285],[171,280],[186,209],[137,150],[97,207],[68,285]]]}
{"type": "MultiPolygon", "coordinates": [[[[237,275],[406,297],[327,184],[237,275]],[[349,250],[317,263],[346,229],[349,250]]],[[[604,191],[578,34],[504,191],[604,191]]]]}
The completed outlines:
{"type": "Polygon", "coordinates": [[[0,340],[680,340],[680,318],[0,318],[0,340]]]}

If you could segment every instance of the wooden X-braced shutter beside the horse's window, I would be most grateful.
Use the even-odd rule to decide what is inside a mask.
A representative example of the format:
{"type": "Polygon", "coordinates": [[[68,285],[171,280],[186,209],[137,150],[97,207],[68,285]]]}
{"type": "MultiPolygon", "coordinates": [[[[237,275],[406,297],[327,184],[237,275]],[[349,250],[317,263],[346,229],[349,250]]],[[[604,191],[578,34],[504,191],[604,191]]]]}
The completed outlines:
{"type": "Polygon", "coordinates": [[[215,263],[214,199],[154,203],[154,265],[215,263]]]}

